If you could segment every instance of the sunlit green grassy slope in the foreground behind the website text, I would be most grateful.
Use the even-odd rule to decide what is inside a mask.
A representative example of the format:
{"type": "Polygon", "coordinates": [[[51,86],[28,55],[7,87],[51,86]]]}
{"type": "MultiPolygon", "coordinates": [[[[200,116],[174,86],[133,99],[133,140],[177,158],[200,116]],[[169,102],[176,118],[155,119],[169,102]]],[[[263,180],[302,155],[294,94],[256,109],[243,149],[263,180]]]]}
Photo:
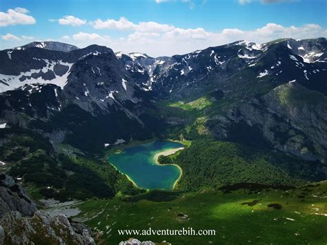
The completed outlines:
{"type": "Polygon", "coordinates": [[[102,235],[97,242],[118,244],[130,237],[172,244],[325,244],[327,241],[327,182],[294,190],[240,189],[224,194],[207,189],[179,194],[170,202],[123,202],[90,199],[81,204],[79,218],[102,235]],[[244,202],[259,200],[255,206],[244,202]],[[281,204],[281,209],[268,204],[281,204]],[[179,221],[184,213],[190,219],[179,221]],[[290,220],[294,219],[294,220],[290,220]],[[215,236],[119,235],[118,229],[214,229],[215,236]]]}

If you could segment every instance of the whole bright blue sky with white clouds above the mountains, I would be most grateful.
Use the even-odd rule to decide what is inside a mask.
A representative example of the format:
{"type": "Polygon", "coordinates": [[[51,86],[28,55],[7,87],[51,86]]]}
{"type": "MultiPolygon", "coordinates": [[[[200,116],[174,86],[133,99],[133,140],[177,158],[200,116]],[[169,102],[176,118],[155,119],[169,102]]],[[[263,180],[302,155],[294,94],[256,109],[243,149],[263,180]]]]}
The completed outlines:
{"type": "Polygon", "coordinates": [[[172,55],[239,39],[327,37],[326,16],[327,0],[1,0],[0,49],[54,40],[172,55]]]}

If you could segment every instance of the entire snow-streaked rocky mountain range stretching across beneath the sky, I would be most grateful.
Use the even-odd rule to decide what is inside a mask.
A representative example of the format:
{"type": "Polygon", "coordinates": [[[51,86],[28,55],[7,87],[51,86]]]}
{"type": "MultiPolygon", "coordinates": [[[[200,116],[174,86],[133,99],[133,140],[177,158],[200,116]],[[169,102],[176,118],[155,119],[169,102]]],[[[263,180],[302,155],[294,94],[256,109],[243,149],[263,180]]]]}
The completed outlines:
{"type": "Polygon", "coordinates": [[[228,137],[232,130],[226,121],[234,127],[245,120],[261,125],[260,132],[279,150],[306,159],[326,157],[326,137],[320,125],[326,121],[324,113],[314,120],[309,113],[316,111],[311,110],[312,101],[302,107],[297,99],[289,107],[288,102],[280,103],[275,95],[278,89],[274,90],[290,82],[327,95],[324,38],[279,39],[261,45],[236,41],[157,58],[114,54],[97,45],[59,50],[54,48],[56,43],[45,44],[0,51],[0,124],[37,130],[56,143],[66,141],[81,150],[99,152],[118,139],[149,137],[154,119],[146,112],[152,110],[153,115],[160,110],[157,101],[214,97],[231,111],[204,115],[217,137],[228,137]],[[233,111],[243,116],[235,117],[233,111]],[[226,115],[226,121],[215,120],[226,115]],[[264,120],[269,122],[266,126],[264,120]],[[295,130],[289,141],[281,136],[285,127],[287,132],[295,130]]]}

